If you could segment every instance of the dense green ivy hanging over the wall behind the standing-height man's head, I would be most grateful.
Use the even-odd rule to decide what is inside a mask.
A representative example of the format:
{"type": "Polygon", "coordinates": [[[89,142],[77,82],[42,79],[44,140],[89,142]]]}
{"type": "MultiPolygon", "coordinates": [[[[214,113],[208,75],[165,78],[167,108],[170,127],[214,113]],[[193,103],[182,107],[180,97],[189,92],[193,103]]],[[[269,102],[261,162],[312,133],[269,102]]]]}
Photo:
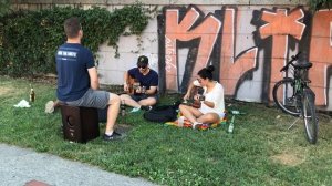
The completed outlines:
{"type": "Polygon", "coordinates": [[[54,54],[65,42],[63,22],[79,17],[84,37],[83,45],[96,54],[107,42],[116,49],[123,34],[137,34],[148,23],[149,17],[142,4],[126,6],[113,12],[102,8],[82,10],[53,8],[40,11],[17,11],[0,17],[0,74],[31,76],[55,73],[54,54]],[[126,30],[128,28],[128,31],[126,30]]]}

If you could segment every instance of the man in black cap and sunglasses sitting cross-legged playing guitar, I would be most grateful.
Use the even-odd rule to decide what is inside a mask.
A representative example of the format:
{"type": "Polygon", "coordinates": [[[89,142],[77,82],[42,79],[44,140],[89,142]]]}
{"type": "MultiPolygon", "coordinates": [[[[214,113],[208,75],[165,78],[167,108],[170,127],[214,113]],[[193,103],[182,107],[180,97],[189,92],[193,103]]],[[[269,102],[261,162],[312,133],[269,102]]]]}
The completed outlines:
{"type": "Polygon", "coordinates": [[[120,96],[126,105],[134,107],[132,112],[141,108],[151,110],[158,101],[157,94],[158,74],[148,68],[148,58],[141,55],[137,60],[137,68],[133,68],[124,74],[124,91],[132,92],[120,96]],[[133,87],[129,80],[134,80],[133,87]]]}

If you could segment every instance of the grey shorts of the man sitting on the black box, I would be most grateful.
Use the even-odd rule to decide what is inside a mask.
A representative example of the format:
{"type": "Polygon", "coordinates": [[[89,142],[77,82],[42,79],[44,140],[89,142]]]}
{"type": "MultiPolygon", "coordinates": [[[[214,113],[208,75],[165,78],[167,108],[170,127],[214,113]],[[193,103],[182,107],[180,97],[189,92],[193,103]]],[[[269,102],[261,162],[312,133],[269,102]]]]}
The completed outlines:
{"type": "Polygon", "coordinates": [[[108,105],[110,96],[110,92],[89,89],[81,99],[65,102],[65,104],[71,106],[105,108],[108,105]]]}

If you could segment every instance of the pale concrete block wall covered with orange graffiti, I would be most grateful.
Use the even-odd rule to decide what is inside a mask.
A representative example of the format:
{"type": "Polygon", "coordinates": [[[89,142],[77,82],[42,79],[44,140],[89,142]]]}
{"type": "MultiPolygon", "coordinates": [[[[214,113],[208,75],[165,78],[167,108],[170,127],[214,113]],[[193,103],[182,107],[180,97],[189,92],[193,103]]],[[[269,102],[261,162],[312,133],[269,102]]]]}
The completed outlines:
{"type": "MultiPolygon", "coordinates": [[[[42,9],[73,6],[110,11],[134,3],[122,1],[17,1],[15,9],[42,9]]],[[[135,66],[146,54],[151,68],[160,73],[160,89],[183,92],[197,71],[208,64],[217,66],[216,79],[226,94],[238,100],[271,101],[271,87],[286,74],[279,70],[292,54],[303,52],[317,104],[332,110],[332,11],[312,14],[308,1],[185,0],[142,1],[158,12],[141,35],[120,40],[120,58],[106,44],[100,49],[101,83],[122,84],[123,72],[135,66]],[[302,6],[303,7],[302,7],[302,6]],[[121,65],[118,65],[121,64],[121,65]]]]}

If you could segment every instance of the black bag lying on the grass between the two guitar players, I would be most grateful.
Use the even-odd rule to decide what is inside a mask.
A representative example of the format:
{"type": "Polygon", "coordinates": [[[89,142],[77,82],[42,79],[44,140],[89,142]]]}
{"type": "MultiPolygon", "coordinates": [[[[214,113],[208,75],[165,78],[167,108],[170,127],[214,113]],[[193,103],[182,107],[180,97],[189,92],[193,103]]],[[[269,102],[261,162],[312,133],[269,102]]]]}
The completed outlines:
{"type": "Polygon", "coordinates": [[[152,110],[145,112],[143,117],[151,122],[166,123],[173,122],[177,118],[178,105],[162,105],[155,106],[152,110]]]}

